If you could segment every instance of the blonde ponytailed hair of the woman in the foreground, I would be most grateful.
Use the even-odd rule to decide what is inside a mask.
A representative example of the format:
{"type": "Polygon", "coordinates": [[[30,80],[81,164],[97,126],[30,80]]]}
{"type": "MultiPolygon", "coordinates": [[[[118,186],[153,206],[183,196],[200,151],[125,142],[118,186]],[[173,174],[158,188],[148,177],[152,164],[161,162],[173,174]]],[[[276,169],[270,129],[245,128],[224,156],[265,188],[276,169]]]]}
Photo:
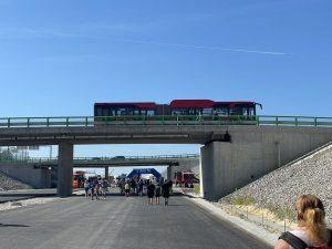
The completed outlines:
{"type": "Polygon", "coordinates": [[[301,195],[297,200],[298,222],[307,228],[307,235],[313,243],[326,243],[329,234],[325,224],[323,203],[313,195],[301,195]]]}

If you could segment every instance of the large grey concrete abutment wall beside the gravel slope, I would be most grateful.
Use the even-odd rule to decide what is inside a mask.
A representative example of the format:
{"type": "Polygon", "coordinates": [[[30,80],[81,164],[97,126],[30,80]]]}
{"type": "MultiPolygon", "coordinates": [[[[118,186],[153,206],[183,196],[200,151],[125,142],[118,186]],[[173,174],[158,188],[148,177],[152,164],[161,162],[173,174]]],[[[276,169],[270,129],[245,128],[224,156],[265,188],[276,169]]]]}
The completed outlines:
{"type": "Polygon", "coordinates": [[[330,128],[230,127],[231,143],[201,147],[201,194],[219,199],[332,141],[330,128]]]}

